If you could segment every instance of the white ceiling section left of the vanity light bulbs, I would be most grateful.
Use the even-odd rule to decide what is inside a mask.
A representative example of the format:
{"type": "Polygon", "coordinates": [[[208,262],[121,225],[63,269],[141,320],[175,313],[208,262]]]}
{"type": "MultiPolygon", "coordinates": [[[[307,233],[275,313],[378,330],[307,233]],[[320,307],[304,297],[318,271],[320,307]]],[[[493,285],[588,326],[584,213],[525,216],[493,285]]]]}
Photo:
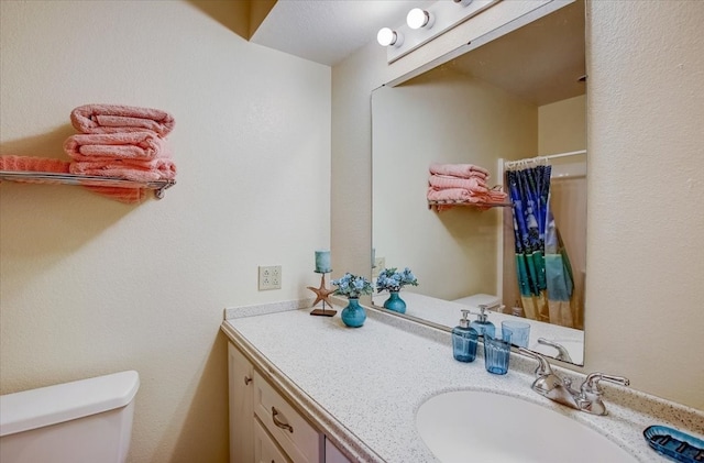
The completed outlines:
{"type": "Polygon", "coordinates": [[[251,41],[333,66],[429,0],[278,0],[251,41]]]}

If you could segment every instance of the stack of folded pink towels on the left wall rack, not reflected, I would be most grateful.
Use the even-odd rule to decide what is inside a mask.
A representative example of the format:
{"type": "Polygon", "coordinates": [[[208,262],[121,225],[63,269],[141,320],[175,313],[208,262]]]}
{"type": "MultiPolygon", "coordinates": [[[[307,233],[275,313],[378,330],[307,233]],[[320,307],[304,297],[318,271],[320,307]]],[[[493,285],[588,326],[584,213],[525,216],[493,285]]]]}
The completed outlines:
{"type": "MultiPolygon", "coordinates": [[[[169,113],[121,104],[85,104],[72,111],[70,121],[80,132],[64,142],[64,151],[72,158],[72,174],[134,181],[176,178],[166,140],[174,128],[169,113]]],[[[122,202],[139,202],[145,196],[143,188],[89,189],[122,202]]]]}

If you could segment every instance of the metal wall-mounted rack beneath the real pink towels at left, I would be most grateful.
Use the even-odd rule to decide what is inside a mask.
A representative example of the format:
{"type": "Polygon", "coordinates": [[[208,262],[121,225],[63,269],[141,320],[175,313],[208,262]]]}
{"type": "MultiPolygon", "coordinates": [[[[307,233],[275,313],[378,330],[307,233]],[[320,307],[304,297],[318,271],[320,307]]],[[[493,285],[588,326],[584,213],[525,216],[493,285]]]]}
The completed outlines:
{"type": "Polygon", "coordinates": [[[91,187],[146,188],[154,190],[154,196],[157,199],[164,197],[164,191],[167,188],[176,185],[176,180],[134,181],[119,177],[20,170],[0,170],[0,180],[91,187]]]}

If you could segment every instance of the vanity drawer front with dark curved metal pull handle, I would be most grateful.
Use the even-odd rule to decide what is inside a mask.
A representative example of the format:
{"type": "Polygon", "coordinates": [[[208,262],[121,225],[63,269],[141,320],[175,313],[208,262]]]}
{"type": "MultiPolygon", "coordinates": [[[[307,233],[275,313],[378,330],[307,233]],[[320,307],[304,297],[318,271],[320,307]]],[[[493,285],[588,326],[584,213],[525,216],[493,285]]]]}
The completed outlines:
{"type": "Polygon", "coordinates": [[[296,463],[320,463],[322,434],[254,372],[254,414],[296,463]]]}

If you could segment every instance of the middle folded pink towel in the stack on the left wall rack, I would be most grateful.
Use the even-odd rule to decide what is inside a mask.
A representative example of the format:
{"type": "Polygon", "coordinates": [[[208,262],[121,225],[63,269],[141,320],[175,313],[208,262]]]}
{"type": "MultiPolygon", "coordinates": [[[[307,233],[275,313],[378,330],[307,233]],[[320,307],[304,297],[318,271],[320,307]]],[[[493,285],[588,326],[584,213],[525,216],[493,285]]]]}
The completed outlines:
{"type": "Polygon", "coordinates": [[[153,132],[72,135],[64,142],[64,151],[74,161],[96,157],[150,161],[170,156],[166,141],[153,132]]]}

